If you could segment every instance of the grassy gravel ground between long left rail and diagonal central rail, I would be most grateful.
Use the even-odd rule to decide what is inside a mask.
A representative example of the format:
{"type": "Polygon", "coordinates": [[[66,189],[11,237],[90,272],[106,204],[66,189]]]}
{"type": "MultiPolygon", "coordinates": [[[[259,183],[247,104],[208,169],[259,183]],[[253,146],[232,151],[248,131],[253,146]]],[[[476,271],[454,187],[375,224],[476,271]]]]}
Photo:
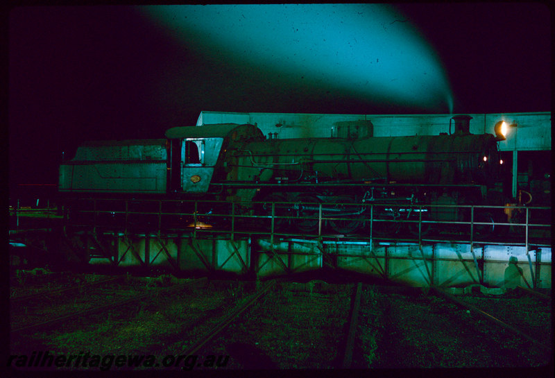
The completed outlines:
{"type": "MultiPolygon", "coordinates": [[[[137,284],[146,290],[144,282],[133,282],[122,285],[119,294],[132,296],[133,286],[137,284]]],[[[164,356],[172,354],[170,349],[173,349],[179,354],[233,309],[240,295],[249,293],[242,282],[219,286],[216,288],[214,284],[202,282],[191,284],[179,293],[153,295],[143,302],[74,319],[54,329],[18,335],[11,340],[10,353],[31,355],[35,350],[48,350],[66,355],[89,352],[101,356],[164,356]]],[[[106,300],[110,298],[105,297],[106,300]]],[[[46,306],[41,311],[50,311],[51,308],[46,306]]]]}

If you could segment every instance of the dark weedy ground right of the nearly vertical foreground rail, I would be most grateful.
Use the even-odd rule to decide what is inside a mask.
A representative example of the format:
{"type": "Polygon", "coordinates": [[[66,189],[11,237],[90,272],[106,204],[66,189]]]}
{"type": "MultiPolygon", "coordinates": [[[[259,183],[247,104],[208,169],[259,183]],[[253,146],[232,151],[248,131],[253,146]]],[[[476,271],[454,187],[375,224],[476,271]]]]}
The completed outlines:
{"type": "MultiPolygon", "coordinates": [[[[461,299],[444,291],[433,292],[437,295],[414,290],[363,293],[363,321],[357,331],[353,366],[508,368],[549,363],[550,345],[545,336],[531,334],[527,322],[501,320],[469,303],[474,297],[461,299]]],[[[509,302],[497,301],[498,307],[511,311],[509,302]]],[[[522,304],[516,301],[513,306],[522,304]]],[[[544,323],[544,327],[547,330],[549,325],[544,323]]]]}

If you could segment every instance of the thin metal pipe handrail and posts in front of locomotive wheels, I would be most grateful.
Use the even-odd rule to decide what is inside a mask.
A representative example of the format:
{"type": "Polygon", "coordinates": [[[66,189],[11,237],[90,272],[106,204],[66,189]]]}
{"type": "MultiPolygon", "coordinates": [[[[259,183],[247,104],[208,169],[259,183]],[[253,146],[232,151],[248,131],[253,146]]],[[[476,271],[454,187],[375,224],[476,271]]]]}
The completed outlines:
{"type": "MultiPolygon", "coordinates": [[[[241,207],[241,205],[246,205],[246,203],[241,203],[241,201],[236,202],[228,202],[228,201],[221,201],[221,200],[160,200],[160,199],[150,199],[146,200],[145,202],[150,202],[156,205],[156,210],[146,211],[144,209],[136,209],[135,207],[139,205],[139,200],[130,200],[130,199],[118,199],[118,198],[89,198],[89,201],[92,203],[92,209],[80,209],[78,214],[92,214],[92,226],[95,228],[107,230],[110,228],[118,227],[118,223],[116,225],[110,225],[102,220],[102,216],[109,216],[112,218],[123,217],[123,223],[119,223],[119,227],[122,227],[124,233],[127,234],[128,232],[133,232],[133,230],[137,230],[137,225],[130,224],[133,223],[133,218],[135,216],[153,216],[149,227],[156,227],[157,232],[160,233],[162,230],[178,230],[179,232],[191,232],[192,237],[196,238],[198,233],[210,233],[210,234],[229,234],[230,237],[233,239],[236,234],[252,234],[254,236],[261,236],[267,235],[271,237],[273,240],[275,237],[316,237],[318,239],[333,237],[336,239],[348,239],[352,238],[352,235],[349,234],[338,234],[337,232],[331,233],[324,229],[324,223],[329,223],[330,221],[353,221],[353,218],[341,218],[344,216],[343,214],[339,213],[342,209],[333,209],[329,206],[337,205],[336,203],[314,203],[314,206],[307,207],[307,210],[310,210],[313,214],[307,214],[303,217],[305,220],[314,221],[317,224],[316,229],[313,232],[291,232],[290,230],[283,229],[280,230],[278,226],[278,221],[280,222],[293,222],[297,219],[295,214],[276,214],[276,209],[284,209],[284,205],[289,205],[289,208],[293,208],[293,205],[296,203],[294,201],[272,201],[271,202],[271,212],[270,214],[255,214],[253,212],[248,212],[245,214],[241,214],[237,212],[237,209],[241,207]],[[113,210],[105,209],[105,205],[110,203],[110,201],[123,201],[125,203],[125,208],[113,210]],[[168,209],[164,209],[164,205],[168,204],[189,204],[193,205],[192,211],[176,211],[172,209],[169,211],[168,209]],[[224,211],[225,209],[220,209],[220,211],[216,212],[206,212],[206,209],[203,207],[210,207],[207,206],[208,204],[211,205],[227,205],[228,211],[224,211]],[[104,207],[102,206],[104,205],[104,207]],[[200,207],[202,205],[202,207],[200,207]],[[318,205],[316,207],[316,205],[318,205]],[[281,206],[281,207],[280,207],[281,206]],[[199,212],[199,207],[201,211],[199,212]],[[317,211],[316,211],[317,210],[317,211]],[[168,225],[169,218],[171,217],[179,217],[186,220],[187,217],[192,218],[191,223],[185,223],[185,221],[181,221],[178,227],[170,227],[168,225]],[[223,221],[226,225],[221,227],[212,227],[207,221],[207,218],[210,218],[214,221],[214,224],[221,223],[219,221],[223,221]],[[243,226],[244,223],[248,220],[257,221],[258,219],[268,219],[270,220],[270,224],[268,225],[269,230],[246,230],[243,226]],[[210,226],[210,227],[208,227],[210,226]]],[[[261,205],[261,204],[269,204],[269,201],[252,201],[248,203],[249,205],[261,205]]],[[[370,229],[364,230],[364,232],[360,232],[358,235],[362,239],[366,239],[369,237],[370,240],[377,239],[377,240],[393,240],[393,241],[408,241],[408,242],[418,242],[419,244],[422,242],[436,242],[436,241],[453,241],[452,236],[451,239],[441,239],[442,235],[436,235],[436,237],[425,237],[422,235],[422,227],[433,227],[434,225],[458,225],[463,227],[464,225],[468,225],[470,227],[470,234],[468,231],[464,231],[461,235],[459,234],[454,235],[455,239],[461,239],[462,236],[464,240],[461,242],[464,243],[491,243],[491,244],[511,244],[515,246],[526,246],[527,250],[530,245],[530,235],[529,229],[531,227],[551,227],[551,224],[544,224],[544,223],[530,223],[529,219],[529,211],[532,209],[539,209],[542,211],[548,211],[550,207],[529,207],[529,206],[507,206],[507,205],[428,205],[428,204],[400,204],[400,203],[372,203],[367,202],[364,204],[361,203],[341,203],[341,205],[345,207],[365,207],[368,209],[367,214],[369,216],[365,216],[364,218],[356,218],[355,221],[361,221],[367,225],[370,225],[370,229]],[[404,218],[400,216],[398,218],[384,218],[384,214],[377,214],[376,209],[385,209],[386,207],[397,207],[403,209],[411,209],[414,211],[415,214],[418,213],[418,216],[415,215],[415,218],[404,218]],[[422,214],[428,211],[432,211],[432,209],[451,209],[451,208],[458,208],[459,211],[463,211],[464,209],[470,209],[470,219],[468,220],[458,220],[458,221],[451,221],[451,220],[427,220],[422,217],[422,214]],[[515,222],[499,222],[499,221],[475,221],[475,209],[525,209],[524,212],[525,218],[523,221],[519,223],[515,222]],[[416,211],[418,209],[418,212],[416,211]],[[397,232],[391,234],[382,234],[381,236],[376,237],[376,230],[375,227],[379,225],[417,225],[416,234],[413,237],[408,237],[406,234],[398,234],[397,232]],[[475,230],[477,226],[488,226],[488,225],[495,226],[509,226],[509,227],[524,227],[523,234],[519,234],[519,239],[524,239],[522,241],[503,241],[499,242],[495,240],[495,238],[480,237],[479,239],[475,238],[475,230]],[[457,236],[458,235],[458,236],[457,236]],[[466,239],[468,238],[468,239],[466,239]]],[[[348,214],[355,214],[352,211],[348,214]]],[[[357,214],[360,215],[360,214],[357,214]]],[[[73,222],[72,225],[79,226],[78,222],[73,222]]],[[[87,226],[87,222],[82,224],[83,226],[87,226]]],[[[466,230],[466,228],[465,228],[466,230]]],[[[536,239],[537,239],[536,235],[536,239]]],[[[539,237],[540,240],[542,238],[546,239],[546,237],[539,237]]],[[[539,243],[541,244],[541,243],[539,243]]],[[[537,242],[534,245],[538,245],[537,242]]],[[[542,244],[543,245],[543,244],[542,244]]]]}

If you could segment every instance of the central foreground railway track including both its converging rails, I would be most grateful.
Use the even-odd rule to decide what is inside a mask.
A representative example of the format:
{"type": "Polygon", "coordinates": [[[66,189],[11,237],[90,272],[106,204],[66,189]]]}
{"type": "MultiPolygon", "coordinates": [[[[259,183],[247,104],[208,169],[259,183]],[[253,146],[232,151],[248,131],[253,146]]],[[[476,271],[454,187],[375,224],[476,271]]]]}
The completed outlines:
{"type": "Polygon", "coordinates": [[[181,354],[228,354],[230,369],[349,368],[362,284],[268,286],[181,354]]]}

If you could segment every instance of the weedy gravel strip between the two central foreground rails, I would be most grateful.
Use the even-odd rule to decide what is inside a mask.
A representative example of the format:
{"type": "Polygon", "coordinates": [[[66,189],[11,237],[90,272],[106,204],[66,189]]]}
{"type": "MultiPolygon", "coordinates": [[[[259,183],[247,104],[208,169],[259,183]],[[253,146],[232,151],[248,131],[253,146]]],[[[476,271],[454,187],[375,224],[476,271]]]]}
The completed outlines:
{"type": "Polygon", "coordinates": [[[351,295],[352,285],[326,293],[272,291],[200,354],[229,354],[228,369],[333,368],[342,356],[351,295]]]}

